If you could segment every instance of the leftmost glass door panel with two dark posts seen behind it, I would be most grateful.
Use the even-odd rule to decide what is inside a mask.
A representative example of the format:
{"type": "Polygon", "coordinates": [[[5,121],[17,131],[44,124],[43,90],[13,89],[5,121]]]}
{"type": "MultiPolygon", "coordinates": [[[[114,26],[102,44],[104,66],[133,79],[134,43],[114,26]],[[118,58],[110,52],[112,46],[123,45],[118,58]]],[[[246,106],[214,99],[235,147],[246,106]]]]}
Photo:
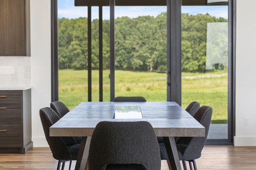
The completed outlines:
{"type": "MultiPolygon", "coordinates": [[[[92,102],[99,100],[99,8],[91,14],[92,102]]],[[[58,100],[69,109],[88,102],[88,7],[58,0],[58,100]],[[73,12],[75,11],[75,12],[73,12]]],[[[109,7],[103,8],[102,88],[103,101],[110,101],[109,7]],[[106,17],[107,16],[107,17],[106,17]]]]}

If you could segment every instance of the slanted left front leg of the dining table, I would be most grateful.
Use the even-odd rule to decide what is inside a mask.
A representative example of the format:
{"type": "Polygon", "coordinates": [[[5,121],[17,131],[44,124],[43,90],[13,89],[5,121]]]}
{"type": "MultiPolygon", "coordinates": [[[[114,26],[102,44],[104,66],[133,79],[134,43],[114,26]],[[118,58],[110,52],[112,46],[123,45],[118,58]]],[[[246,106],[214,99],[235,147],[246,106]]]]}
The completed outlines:
{"type": "Polygon", "coordinates": [[[76,160],[75,170],[84,170],[89,156],[89,148],[92,137],[82,137],[76,160]]]}

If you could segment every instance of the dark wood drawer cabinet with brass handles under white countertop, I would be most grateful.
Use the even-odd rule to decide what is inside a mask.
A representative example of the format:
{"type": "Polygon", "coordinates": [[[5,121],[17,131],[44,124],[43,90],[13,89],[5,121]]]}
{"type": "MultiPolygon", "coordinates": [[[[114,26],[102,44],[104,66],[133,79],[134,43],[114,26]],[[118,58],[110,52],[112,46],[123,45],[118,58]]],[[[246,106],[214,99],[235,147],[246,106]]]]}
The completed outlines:
{"type": "Polygon", "coordinates": [[[31,135],[31,90],[0,90],[0,153],[25,154],[31,135]]]}

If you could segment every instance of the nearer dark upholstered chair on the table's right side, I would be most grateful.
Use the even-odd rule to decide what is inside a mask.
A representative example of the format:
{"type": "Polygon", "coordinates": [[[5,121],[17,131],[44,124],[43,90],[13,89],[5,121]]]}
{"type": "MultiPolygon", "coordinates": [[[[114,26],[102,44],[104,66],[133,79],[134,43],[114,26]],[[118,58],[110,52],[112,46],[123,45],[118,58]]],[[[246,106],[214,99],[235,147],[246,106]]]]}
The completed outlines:
{"type": "MultiPolygon", "coordinates": [[[[187,170],[186,161],[189,162],[190,170],[192,170],[192,163],[194,170],[196,170],[196,159],[200,158],[202,149],[207,139],[211,119],[212,119],[212,107],[202,106],[194,114],[194,118],[205,127],[205,137],[180,137],[176,142],[178,155],[184,170],[187,170]]],[[[162,160],[168,160],[168,155],[164,143],[160,143],[160,154],[162,160]]]]}

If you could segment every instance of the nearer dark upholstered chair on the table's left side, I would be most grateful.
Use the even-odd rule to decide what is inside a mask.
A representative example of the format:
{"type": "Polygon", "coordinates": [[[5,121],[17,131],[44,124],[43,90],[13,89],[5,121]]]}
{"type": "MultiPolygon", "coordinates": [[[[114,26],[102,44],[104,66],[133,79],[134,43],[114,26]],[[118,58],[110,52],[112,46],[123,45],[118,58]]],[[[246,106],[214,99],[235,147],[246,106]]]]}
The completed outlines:
{"type": "Polygon", "coordinates": [[[64,169],[65,162],[70,161],[69,170],[71,168],[72,160],[77,159],[78,150],[80,144],[77,144],[73,137],[50,137],[49,128],[56,123],[60,117],[50,107],[44,107],[40,109],[40,119],[44,129],[46,141],[52,151],[52,156],[58,160],[57,170],[60,169],[62,163],[62,169],[64,169]]]}

